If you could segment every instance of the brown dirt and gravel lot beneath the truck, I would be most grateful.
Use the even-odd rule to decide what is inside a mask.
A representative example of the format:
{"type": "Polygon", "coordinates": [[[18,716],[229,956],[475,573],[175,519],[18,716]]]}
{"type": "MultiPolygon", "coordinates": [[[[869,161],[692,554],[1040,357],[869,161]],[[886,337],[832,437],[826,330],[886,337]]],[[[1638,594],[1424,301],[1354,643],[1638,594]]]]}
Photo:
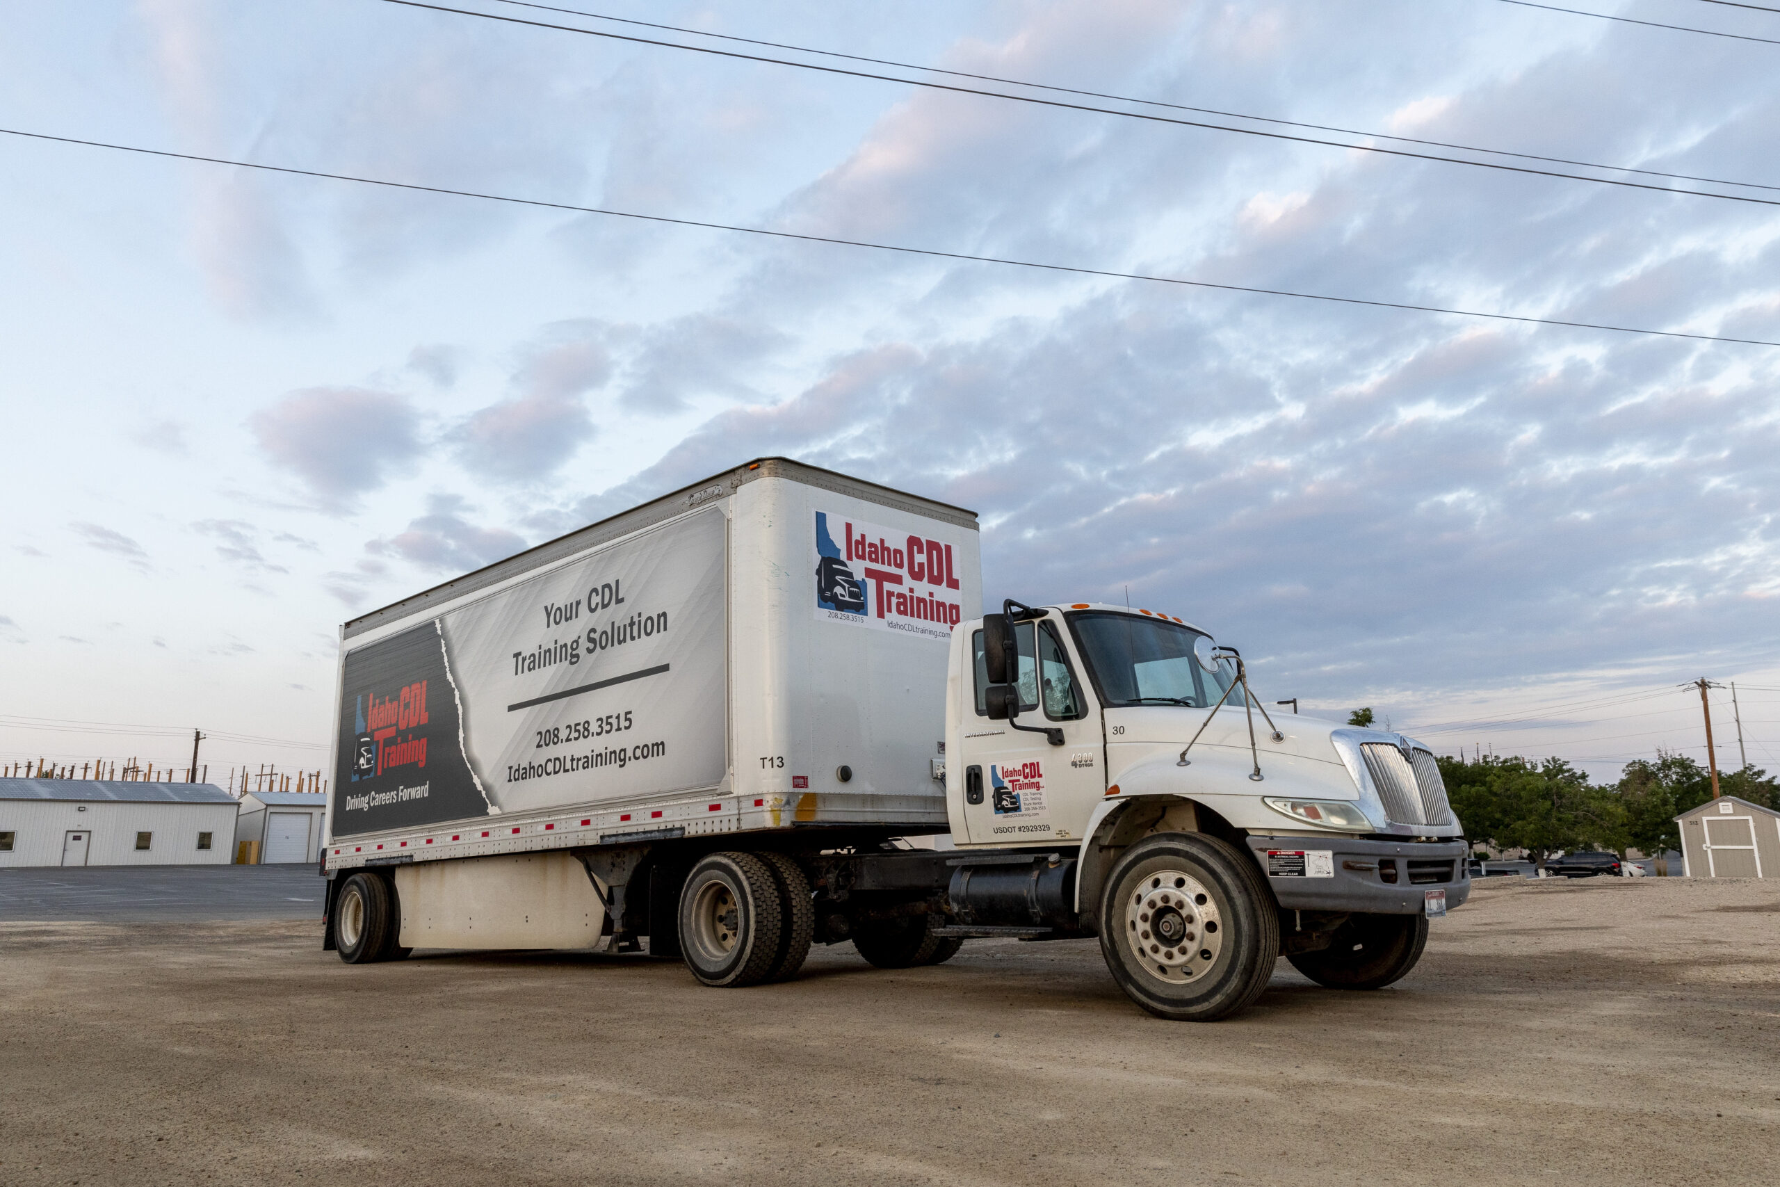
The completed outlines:
{"type": "Polygon", "coordinates": [[[1089,943],[783,986],[313,922],[0,924],[0,1182],[1773,1183],[1780,883],[1485,884],[1378,993],[1157,1021],[1089,943]]]}

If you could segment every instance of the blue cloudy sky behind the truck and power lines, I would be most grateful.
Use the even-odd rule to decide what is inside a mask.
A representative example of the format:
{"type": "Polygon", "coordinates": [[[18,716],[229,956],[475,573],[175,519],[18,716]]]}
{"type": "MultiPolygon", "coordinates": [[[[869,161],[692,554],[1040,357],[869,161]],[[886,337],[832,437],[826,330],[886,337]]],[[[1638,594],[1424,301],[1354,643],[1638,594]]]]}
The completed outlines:
{"type": "MultiPolygon", "coordinates": [[[[1780,199],[1757,189],[1780,187],[1780,14],[1700,0],[1574,7],[1744,39],[1499,0],[557,4],[1780,199]]],[[[1780,340],[1775,205],[381,0],[0,12],[0,126],[14,130],[1780,340]]],[[[189,756],[189,733],[68,724],[116,723],[233,735],[206,742],[212,778],[230,762],[317,767],[342,619],[785,454],[977,509],[991,598],[1123,602],[1129,587],[1239,644],[1269,699],[1374,705],[1449,753],[1561,755],[1607,776],[1657,746],[1705,756],[1698,696],[1673,689],[1703,674],[1737,682],[1750,760],[1775,769],[1776,381],[1780,349],[1760,345],[1047,274],[0,135],[0,762],[189,756]]],[[[1736,765],[1728,710],[1714,692],[1719,760],[1736,765]]]]}

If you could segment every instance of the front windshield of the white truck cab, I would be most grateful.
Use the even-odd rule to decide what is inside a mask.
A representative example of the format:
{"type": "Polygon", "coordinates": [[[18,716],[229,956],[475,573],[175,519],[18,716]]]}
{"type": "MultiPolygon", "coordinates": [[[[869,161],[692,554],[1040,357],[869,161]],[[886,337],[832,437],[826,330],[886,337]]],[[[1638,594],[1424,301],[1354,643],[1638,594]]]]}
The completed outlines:
{"type": "MultiPolygon", "coordinates": [[[[1187,705],[1209,708],[1235,680],[1225,660],[1218,674],[1193,658],[1200,632],[1153,618],[1091,610],[1070,614],[1082,658],[1107,708],[1121,705],[1187,705]]],[[[1225,705],[1241,707],[1242,689],[1225,705]]]]}

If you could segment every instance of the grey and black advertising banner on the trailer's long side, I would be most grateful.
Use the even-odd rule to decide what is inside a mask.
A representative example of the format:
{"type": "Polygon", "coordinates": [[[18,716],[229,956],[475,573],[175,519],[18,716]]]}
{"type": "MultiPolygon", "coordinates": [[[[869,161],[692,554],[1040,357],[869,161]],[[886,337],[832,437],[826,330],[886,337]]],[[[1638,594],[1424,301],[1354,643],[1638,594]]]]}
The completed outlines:
{"type": "Polygon", "coordinates": [[[726,541],[707,507],[363,635],[333,842],[716,788],[726,541]]]}

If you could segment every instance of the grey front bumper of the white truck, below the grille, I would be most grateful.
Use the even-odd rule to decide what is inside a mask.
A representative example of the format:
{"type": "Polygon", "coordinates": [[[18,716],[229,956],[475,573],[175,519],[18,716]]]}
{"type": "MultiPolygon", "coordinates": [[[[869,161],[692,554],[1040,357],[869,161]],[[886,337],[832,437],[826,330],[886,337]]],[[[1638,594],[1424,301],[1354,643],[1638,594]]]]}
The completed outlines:
{"type": "Polygon", "coordinates": [[[1447,909],[1470,897],[1465,872],[1470,845],[1463,840],[1260,835],[1250,836],[1248,847],[1273,897],[1289,909],[1420,915],[1429,890],[1445,892],[1447,909]],[[1383,877],[1387,861],[1396,865],[1396,883],[1383,877]]]}

